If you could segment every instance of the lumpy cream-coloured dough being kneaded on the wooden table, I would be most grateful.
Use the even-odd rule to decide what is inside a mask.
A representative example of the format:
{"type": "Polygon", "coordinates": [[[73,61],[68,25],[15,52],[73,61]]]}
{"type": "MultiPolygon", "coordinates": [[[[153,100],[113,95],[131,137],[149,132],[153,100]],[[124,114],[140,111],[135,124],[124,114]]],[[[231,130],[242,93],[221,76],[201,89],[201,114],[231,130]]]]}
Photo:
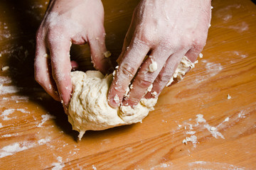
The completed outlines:
{"type": "MultiPolygon", "coordinates": [[[[193,63],[183,57],[176,69],[177,73],[185,74],[185,70],[192,68],[193,63]],[[185,64],[184,64],[185,63],[185,64]]],[[[142,98],[137,106],[120,106],[111,108],[107,104],[107,92],[112,83],[113,75],[104,76],[98,71],[71,72],[73,94],[68,108],[68,121],[73,130],[80,132],[79,139],[86,130],[105,130],[119,125],[129,125],[142,122],[149,111],[154,110],[157,98],[142,98]]]]}

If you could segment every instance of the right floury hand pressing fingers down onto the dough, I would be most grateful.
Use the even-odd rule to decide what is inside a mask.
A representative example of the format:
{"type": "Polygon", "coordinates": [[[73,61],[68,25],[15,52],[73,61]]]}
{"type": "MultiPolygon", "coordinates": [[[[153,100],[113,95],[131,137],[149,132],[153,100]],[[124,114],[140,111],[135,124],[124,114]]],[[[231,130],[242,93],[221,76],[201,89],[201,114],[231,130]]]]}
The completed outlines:
{"type": "Polygon", "coordinates": [[[210,8],[210,0],[142,0],[117,60],[109,105],[115,108],[121,101],[124,106],[136,106],[144,95],[158,97],[184,55],[195,62],[206,44],[210,8]],[[150,57],[145,59],[147,54],[150,57]],[[149,69],[150,64],[157,64],[155,70],[149,69]],[[131,81],[133,88],[124,98],[131,81]],[[146,94],[151,84],[154,95],[146,94]]]}

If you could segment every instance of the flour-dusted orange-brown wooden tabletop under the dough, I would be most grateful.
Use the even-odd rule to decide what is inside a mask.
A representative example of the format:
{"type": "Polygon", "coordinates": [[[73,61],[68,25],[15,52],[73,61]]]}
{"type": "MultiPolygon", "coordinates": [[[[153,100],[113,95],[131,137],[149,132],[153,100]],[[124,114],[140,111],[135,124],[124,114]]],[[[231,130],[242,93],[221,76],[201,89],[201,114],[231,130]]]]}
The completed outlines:
{"type": "MultiPolygon", "coordinates": [[[[114,61],[137,1],[103,3],[114,61]]],[[[0,169],[256,169],[252,1],[213,1],[203,59],[164,89],[143,123],[86,132],[80,142],[60,103],[33,79],[34,36],[47,5],[0,1],[0,67],[9,66],[0,72],[0,169]]],[[[86,45],[73,47],[84,70],[92,68],[88,56],[86,45]]]]}

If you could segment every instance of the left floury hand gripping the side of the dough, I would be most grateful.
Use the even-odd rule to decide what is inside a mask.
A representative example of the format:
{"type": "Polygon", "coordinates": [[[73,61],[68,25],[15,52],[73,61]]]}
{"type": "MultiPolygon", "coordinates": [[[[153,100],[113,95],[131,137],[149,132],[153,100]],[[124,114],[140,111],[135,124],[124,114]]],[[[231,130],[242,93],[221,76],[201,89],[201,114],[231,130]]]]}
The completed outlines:
{"type": "Polygon", "coordinates": [[[70,46],[90,45],[96,69],[106,73],[110,66],[104,53],[104,9],[100,0],[53,0],[36,34],[35,78],[55,100],[68,110],[72,84],[70,46]],[[50,53],[49,55],[48,52],[50,53]],[[58,92],[57,92],[58,91],[58,92]]]}

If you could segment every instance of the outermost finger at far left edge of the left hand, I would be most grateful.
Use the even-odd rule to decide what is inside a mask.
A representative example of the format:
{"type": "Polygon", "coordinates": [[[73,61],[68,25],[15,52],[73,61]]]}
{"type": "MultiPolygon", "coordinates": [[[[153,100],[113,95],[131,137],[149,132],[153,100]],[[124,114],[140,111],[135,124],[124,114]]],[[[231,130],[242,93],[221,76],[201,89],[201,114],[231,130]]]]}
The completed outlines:
{"type": "Polygon", "coordinates": [[[45,42],[42,35],[37,33],[36,38],[36,57],[34,62],[35,79],[45,91],[56,101],[60,101],[55,83],[51,76],[50,57],[47,55],[45,42]]]}

